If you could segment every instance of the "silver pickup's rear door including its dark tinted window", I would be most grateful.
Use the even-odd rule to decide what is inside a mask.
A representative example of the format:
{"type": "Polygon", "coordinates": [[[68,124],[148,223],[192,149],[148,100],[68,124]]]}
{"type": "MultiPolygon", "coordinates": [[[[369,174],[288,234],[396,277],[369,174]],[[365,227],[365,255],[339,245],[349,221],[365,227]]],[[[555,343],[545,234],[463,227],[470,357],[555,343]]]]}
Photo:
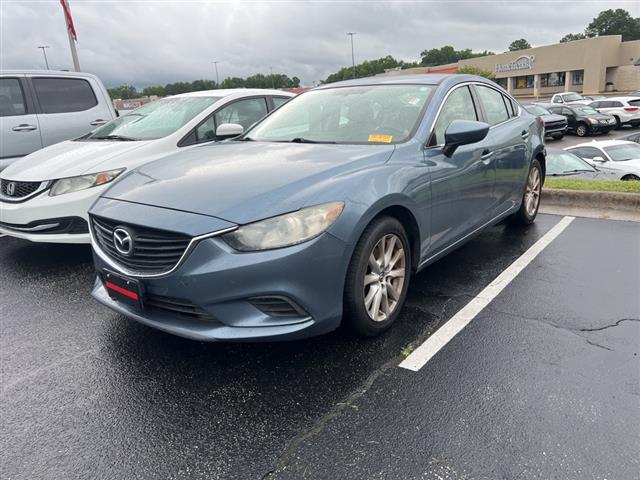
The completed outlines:
{"type": "Polygon", "coordinates": [[[91,78],[46,76],[30,81],[45,147],[84,135],[112,118],[109,105],[91,78]]]}

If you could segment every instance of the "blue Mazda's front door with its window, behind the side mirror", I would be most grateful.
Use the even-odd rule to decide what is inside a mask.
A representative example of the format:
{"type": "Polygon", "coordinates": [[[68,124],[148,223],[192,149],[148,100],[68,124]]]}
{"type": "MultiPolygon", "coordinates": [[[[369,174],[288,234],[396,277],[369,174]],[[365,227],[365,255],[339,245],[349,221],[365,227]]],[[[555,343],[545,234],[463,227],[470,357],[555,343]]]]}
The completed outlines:
{"type": "Polygon", "coordinates": [[[473,231],[494,208],[495,164],[480,144],[444,155],[444,133],[453,120],[478,120],[479,108],[468,85],[454,87],[436,119],[425,161],[431,173],[431,238],[435,254],[473,231]]]}

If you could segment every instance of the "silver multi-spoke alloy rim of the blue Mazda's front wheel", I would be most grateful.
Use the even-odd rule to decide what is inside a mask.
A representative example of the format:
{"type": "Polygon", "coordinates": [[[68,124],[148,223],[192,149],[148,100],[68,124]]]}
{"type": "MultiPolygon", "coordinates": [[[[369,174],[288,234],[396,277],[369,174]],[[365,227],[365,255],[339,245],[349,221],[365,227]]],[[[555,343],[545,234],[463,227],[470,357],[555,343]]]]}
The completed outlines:
{"type": "Polygon", "coordinates": [[[402,240],[393,233],[385,235],[373,247],[364,275],[364,306],[373,321],[386,320],[398,306],[405,272],[402,240]]]}

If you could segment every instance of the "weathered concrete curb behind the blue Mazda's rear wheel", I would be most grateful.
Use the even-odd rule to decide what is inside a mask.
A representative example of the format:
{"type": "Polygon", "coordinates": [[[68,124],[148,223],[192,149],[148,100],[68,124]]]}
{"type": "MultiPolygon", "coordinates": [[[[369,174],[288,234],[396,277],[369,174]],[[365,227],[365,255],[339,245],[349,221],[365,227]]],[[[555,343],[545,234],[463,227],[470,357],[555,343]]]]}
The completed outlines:
{"type": "Polygon", "coordinates": [[[542,189],[542,203],[549,206],[589,210],[640,211],[640,193],[592,192],[585,190],[542,189]]]}

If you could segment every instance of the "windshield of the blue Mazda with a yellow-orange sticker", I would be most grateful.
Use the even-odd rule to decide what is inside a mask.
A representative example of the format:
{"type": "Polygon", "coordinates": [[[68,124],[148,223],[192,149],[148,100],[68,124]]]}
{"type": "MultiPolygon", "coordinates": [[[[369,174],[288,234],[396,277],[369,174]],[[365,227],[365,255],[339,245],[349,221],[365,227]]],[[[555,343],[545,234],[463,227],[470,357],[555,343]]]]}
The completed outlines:
{"type": "Polygon", "coordinates": [[[398,143],[415,129],[433,85],[363,85],[313,90],[285,103],[245,140],[398,143]]]}

